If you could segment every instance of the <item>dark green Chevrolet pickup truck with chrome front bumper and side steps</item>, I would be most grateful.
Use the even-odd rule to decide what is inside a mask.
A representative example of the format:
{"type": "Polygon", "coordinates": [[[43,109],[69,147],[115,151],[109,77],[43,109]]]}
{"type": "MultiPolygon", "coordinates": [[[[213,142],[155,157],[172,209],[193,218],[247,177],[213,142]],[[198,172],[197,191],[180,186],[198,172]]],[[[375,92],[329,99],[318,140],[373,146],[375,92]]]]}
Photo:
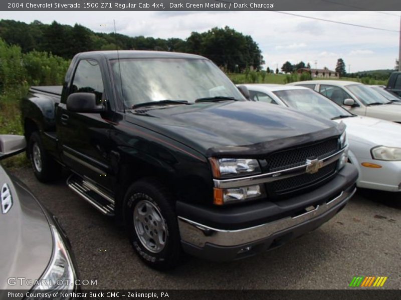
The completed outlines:
{"type": "Polygon", "coordinates": [[[231,260],[274,248],[343,208],[357,171],[342,123],[241,91],[197,55],[79,53],[62,87],[31,87],[22,102],[34,172],[70,169],[68,186],[122,220],[155,268],[182,251],[231,260]]]}

